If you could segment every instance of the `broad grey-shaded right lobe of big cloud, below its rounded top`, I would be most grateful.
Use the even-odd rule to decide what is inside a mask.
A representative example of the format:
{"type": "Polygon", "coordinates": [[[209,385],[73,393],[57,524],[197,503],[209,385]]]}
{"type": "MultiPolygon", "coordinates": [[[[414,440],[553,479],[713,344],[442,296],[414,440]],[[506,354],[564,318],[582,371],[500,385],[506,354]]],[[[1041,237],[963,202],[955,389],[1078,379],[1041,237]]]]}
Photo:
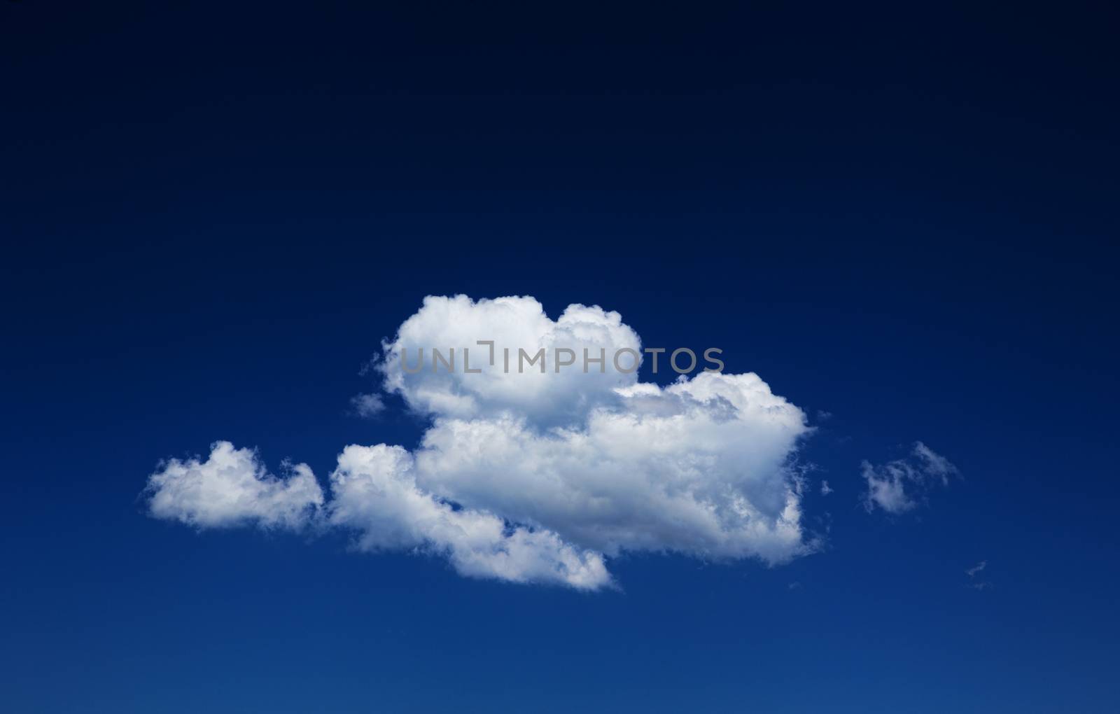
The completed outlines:
{"type": "Polygon", "coordinates": [[[420,483],[465,506],[541,524],[607,555],[674,551],[780,563],[804,548],[785,461],[801,412],[755,375],[701,374],[619,389],[579,428],[437,419],[420,483]]]}

